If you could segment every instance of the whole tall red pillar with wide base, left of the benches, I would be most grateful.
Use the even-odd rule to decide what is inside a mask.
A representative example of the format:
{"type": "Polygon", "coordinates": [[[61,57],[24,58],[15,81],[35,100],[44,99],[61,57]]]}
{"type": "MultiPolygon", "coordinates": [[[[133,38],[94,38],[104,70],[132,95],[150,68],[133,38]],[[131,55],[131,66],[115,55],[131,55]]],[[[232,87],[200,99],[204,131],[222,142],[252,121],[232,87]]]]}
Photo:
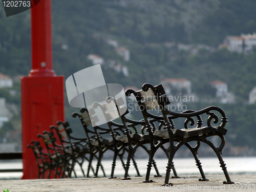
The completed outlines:
{"type": "Polygon", "coordinates": [[[51,0],[42,0],[31,9],[32,70],[22,78],[23,178],[36,179],[38,166],[31,148],[37,134],[50,131],[64,121],[63,76],[52,70],[51,0]]]}

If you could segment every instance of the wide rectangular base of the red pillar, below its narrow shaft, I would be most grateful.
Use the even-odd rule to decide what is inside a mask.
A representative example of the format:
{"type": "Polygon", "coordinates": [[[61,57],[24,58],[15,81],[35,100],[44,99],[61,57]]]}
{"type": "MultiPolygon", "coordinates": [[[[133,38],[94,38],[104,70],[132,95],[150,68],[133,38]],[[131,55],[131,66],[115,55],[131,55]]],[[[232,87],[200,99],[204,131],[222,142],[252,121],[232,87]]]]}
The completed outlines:
{"type": "Polygon", "coordinates": [[[27,145],[31,140],[39,140],[37,134],[50,131],[50,125],[65,119],[63,82],[63,76],[22,78],[22,179],[38,177],[35,156],[27,145]]]}

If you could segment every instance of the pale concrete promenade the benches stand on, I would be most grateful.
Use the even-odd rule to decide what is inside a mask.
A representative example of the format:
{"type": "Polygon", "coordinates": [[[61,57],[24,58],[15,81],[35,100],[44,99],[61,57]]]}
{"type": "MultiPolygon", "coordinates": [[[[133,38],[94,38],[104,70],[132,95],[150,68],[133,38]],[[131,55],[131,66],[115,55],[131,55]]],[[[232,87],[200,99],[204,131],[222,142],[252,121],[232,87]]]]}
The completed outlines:
{"type": "Polygon", "coordinates": [[[132,180],[108,178],[77,179],[35,179],[35,180],[0,180],[0,191],[256,191],[256,175],[230,175],[234,184],[223,184],[224,175],[206,175],[209,181],[198,181],[199,175],[181,175],[180,179],[170,179],[174,186],[161,186],[165,177],[151,179],[153,183],[142,183],[144,177],[131,177],[132,180]]]}

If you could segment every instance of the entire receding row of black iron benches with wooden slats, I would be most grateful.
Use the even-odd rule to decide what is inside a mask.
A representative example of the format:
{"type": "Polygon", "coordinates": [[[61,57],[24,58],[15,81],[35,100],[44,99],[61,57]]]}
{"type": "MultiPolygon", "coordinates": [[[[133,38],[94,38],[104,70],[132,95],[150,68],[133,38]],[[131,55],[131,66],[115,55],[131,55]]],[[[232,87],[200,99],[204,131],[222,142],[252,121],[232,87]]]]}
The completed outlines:
{"type": "Polygon", "coordinates": [[[57,122],[57,126],[50,127],[51,130],[55,130],[54,132],[44,132],[42,135],[38,135],[44,141],[45,149],[42,148],[39,141],[31,141],[31,145],[28,145],[28,147],[33,149],[37,160],[39,168],[38,178],[44,178],[46,177],[45,175],[48,175],[48,178],[50,178],[51,174],[54,174],[55,178],[65,178],[71,177],[72,173],[76,177],[75,164],[80,166],[84,177],[90,177],[90,172],[93,172],[94,177],[98,177],[99,169],[102,170],[105,176],[101,160],[103,154],[111,150],[114,156],[110,178],[115,178],[114,170],[117,157],[119,157],[124,168],[123,179],[130,179],[128,173],[131,161],[137,171],[137,176],[140,176],[134,157],[136,157],[137,148],[142,147],[148,154],[147,172],[144,182],[153,182],[150,180],[152,166],[154,166],[156,171],[155,177],[161,176],[154,161],[154,155],[160,148],[168,158],[164,183],[164,185],[168,185],[170,184],[169,176],[171,170],[173,170],[173,178],[179,178],[174,167],[173,158],[178,149],[185,145],[196,160],[196,165],[202,176],[200,181],[207,181],[208,179],[204,175],[197,155],[201,142],[204,142],[214,150],[220,161],[220,166],[227,180],[223,183],[233,183],[229,178],[226,164],[221,156],[225,145],[224,135],[227,132],[224,128],[227,117],[222,109],[217,106],[209,106],[197,112],[193,110],[186,110],[182,113],[170,111],[167,107],[170,102],[161,84],[154,87],[152,84],[145,83],[142,86],[142,90],[136,92],[129,89],[126,90],[125,94],[128,97],[131,95],[135,96],[143,115],[142,120],[136,121],[127,117],[129,111],[126,107],[121,108],[121,105],[124,103],[122,98],[108,98],[104,104],[94,103],[93,105],[93,108],[100,108],[102,110],[104,118],[109,121],[107,127],[92,127],[92,121],[97,121],[97,118],[90,119],[89,117],[89,114],[91,117],[94,114],[93,109],[88,111],[82,108],[80,113],[73,113],[72,115],[80,119],[83,130],[86,133],[86,138],[72,137],[72,129],[69,127],[69,123],[57,122]],[[161,115],[152,114],[151,110],[153,109],[160,109],[161,115]],[[124,114],[120,113],[123,110],[126,110],[126,112],[124,114]],[[111,121],[117,113],[122,123],[111,121]],[[202,116],[205,115],[207,115],[206,126],[202,126],[202,116]],[[221,116],[220,121],[217,115],[221,116]],[[184,127],[176,129],[174,121],[180,118],[184,118],[184,127]],[[218,136],[221,139],[221,144],[215,146],[208,139],[211,136],[218,136]],[[189,144],[191,141],[197,141],[197,145],[191,146],[189,144]],[[148,147],[148,145],[150,146],[148,147]],[[92,166],[94,159],[97,159],[95,168],[92,166]],[[84,173],[82,168],[82,164],[85,161],[88,163],[87,173],[84,173]]]}

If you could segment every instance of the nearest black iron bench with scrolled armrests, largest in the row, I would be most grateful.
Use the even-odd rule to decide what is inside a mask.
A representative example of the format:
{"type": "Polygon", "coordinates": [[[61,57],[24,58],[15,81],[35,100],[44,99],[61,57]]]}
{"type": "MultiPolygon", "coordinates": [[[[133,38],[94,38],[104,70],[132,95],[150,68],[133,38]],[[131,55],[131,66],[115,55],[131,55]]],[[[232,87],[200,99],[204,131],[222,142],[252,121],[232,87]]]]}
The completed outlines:
{"type": "Polygon", "coordinates": [[[177,150],[182,146],[183,144],[186,145],[189,150],[193,153],[197,166],[200,170],[202,179],[201,181],[206,181],[205,175],[202,170],[201,163],[198,159],[197,153],[198,148],[200,146],[200,142],[204,142],[208,144],[216,153],[221,167],[223,169],[223,172],[225,174],[225,177],[227,181],[224,181],[223,183],[233,183],[229,175],[227,173],[227,169],[225,166],[225,163],[222,159],[222,149],[225,145],[225,138],[224,135],[226,134],[227,130],[224,128],[227,117],[224,113],[224,111],[217,106],[209,106],[208,108],[205,108],[203,110],[200,110],[198,112],[187,110],[182,113],[175,113],[173,111],[170,111],[166,108],[166,105],[168,105],[170,102],[168,100],[168,97],[165,95],[165,91],[161,85],[154,87],[152,84],[145,83],[142,86],[142,90],[135,92],[134,90],[126,90],[126,95],[129,96],[131,94],[134,94],[139,105],[140,110],[144,116],[145,121],[148,118],[155,118],[159,120],[164,121],[164,129],[165,130],[157,130],[152,132],[152,127],[149,123],[149,120],[147,120],[147,131],[150,133],[151,136],[151,147],[153,147],[153,153],[150,156],[150,160],[148,161],[148,168],[147,168],[147,175],[145,182],[152,182],[149,180],[150,176],[150,170],[151,170],[151,161],[154,156],[154,152],[157,150],[157,145],[160,143],[158,142],[156,145],[154,142],[156,142],[156,138],[164,138],[169,140],[169,157],[168,157],[168,163],[167,163],[167,170],[166,170],[166,176],[165,176],[165,184],[169,184],[169,174],[170,169],[174,166],[173,165],[173,157],[177,150]],[[153,115],[148,112],[148,110],[157,109],[160,108],[162,116],[153,115]],[[218,112],[221,114],[221,124],[218,126],[212,126],[211,121],[216,124],[218,123],[218,116],[213,112],[218,112]],[[206,114],[208,115],[207,119],[207,126],[202,127],[203,120],[200,115],[206,114]],[[184,122],[184,129],[176,129],[174,125],[174,120],[177,118],[185,118],[184,122]],[[189,128],[187,125],[188,123],[193,126],[195,124],[195,119],[197,118],[197,126],[193,128],[189,128]],[[154,137],[153,137],[153,136],[154,137]],[[221,139],[220,146],[216,147],[214,144],[212,144],[210,141],[207,140],[210,136],[219,136],[221,139]],[[190,141],[197,141],[197,145],[195,147],[192,147],[188,142],[190,141]],[[174,144],[174,142],[178,142],[177,144],[174,144]]]}

